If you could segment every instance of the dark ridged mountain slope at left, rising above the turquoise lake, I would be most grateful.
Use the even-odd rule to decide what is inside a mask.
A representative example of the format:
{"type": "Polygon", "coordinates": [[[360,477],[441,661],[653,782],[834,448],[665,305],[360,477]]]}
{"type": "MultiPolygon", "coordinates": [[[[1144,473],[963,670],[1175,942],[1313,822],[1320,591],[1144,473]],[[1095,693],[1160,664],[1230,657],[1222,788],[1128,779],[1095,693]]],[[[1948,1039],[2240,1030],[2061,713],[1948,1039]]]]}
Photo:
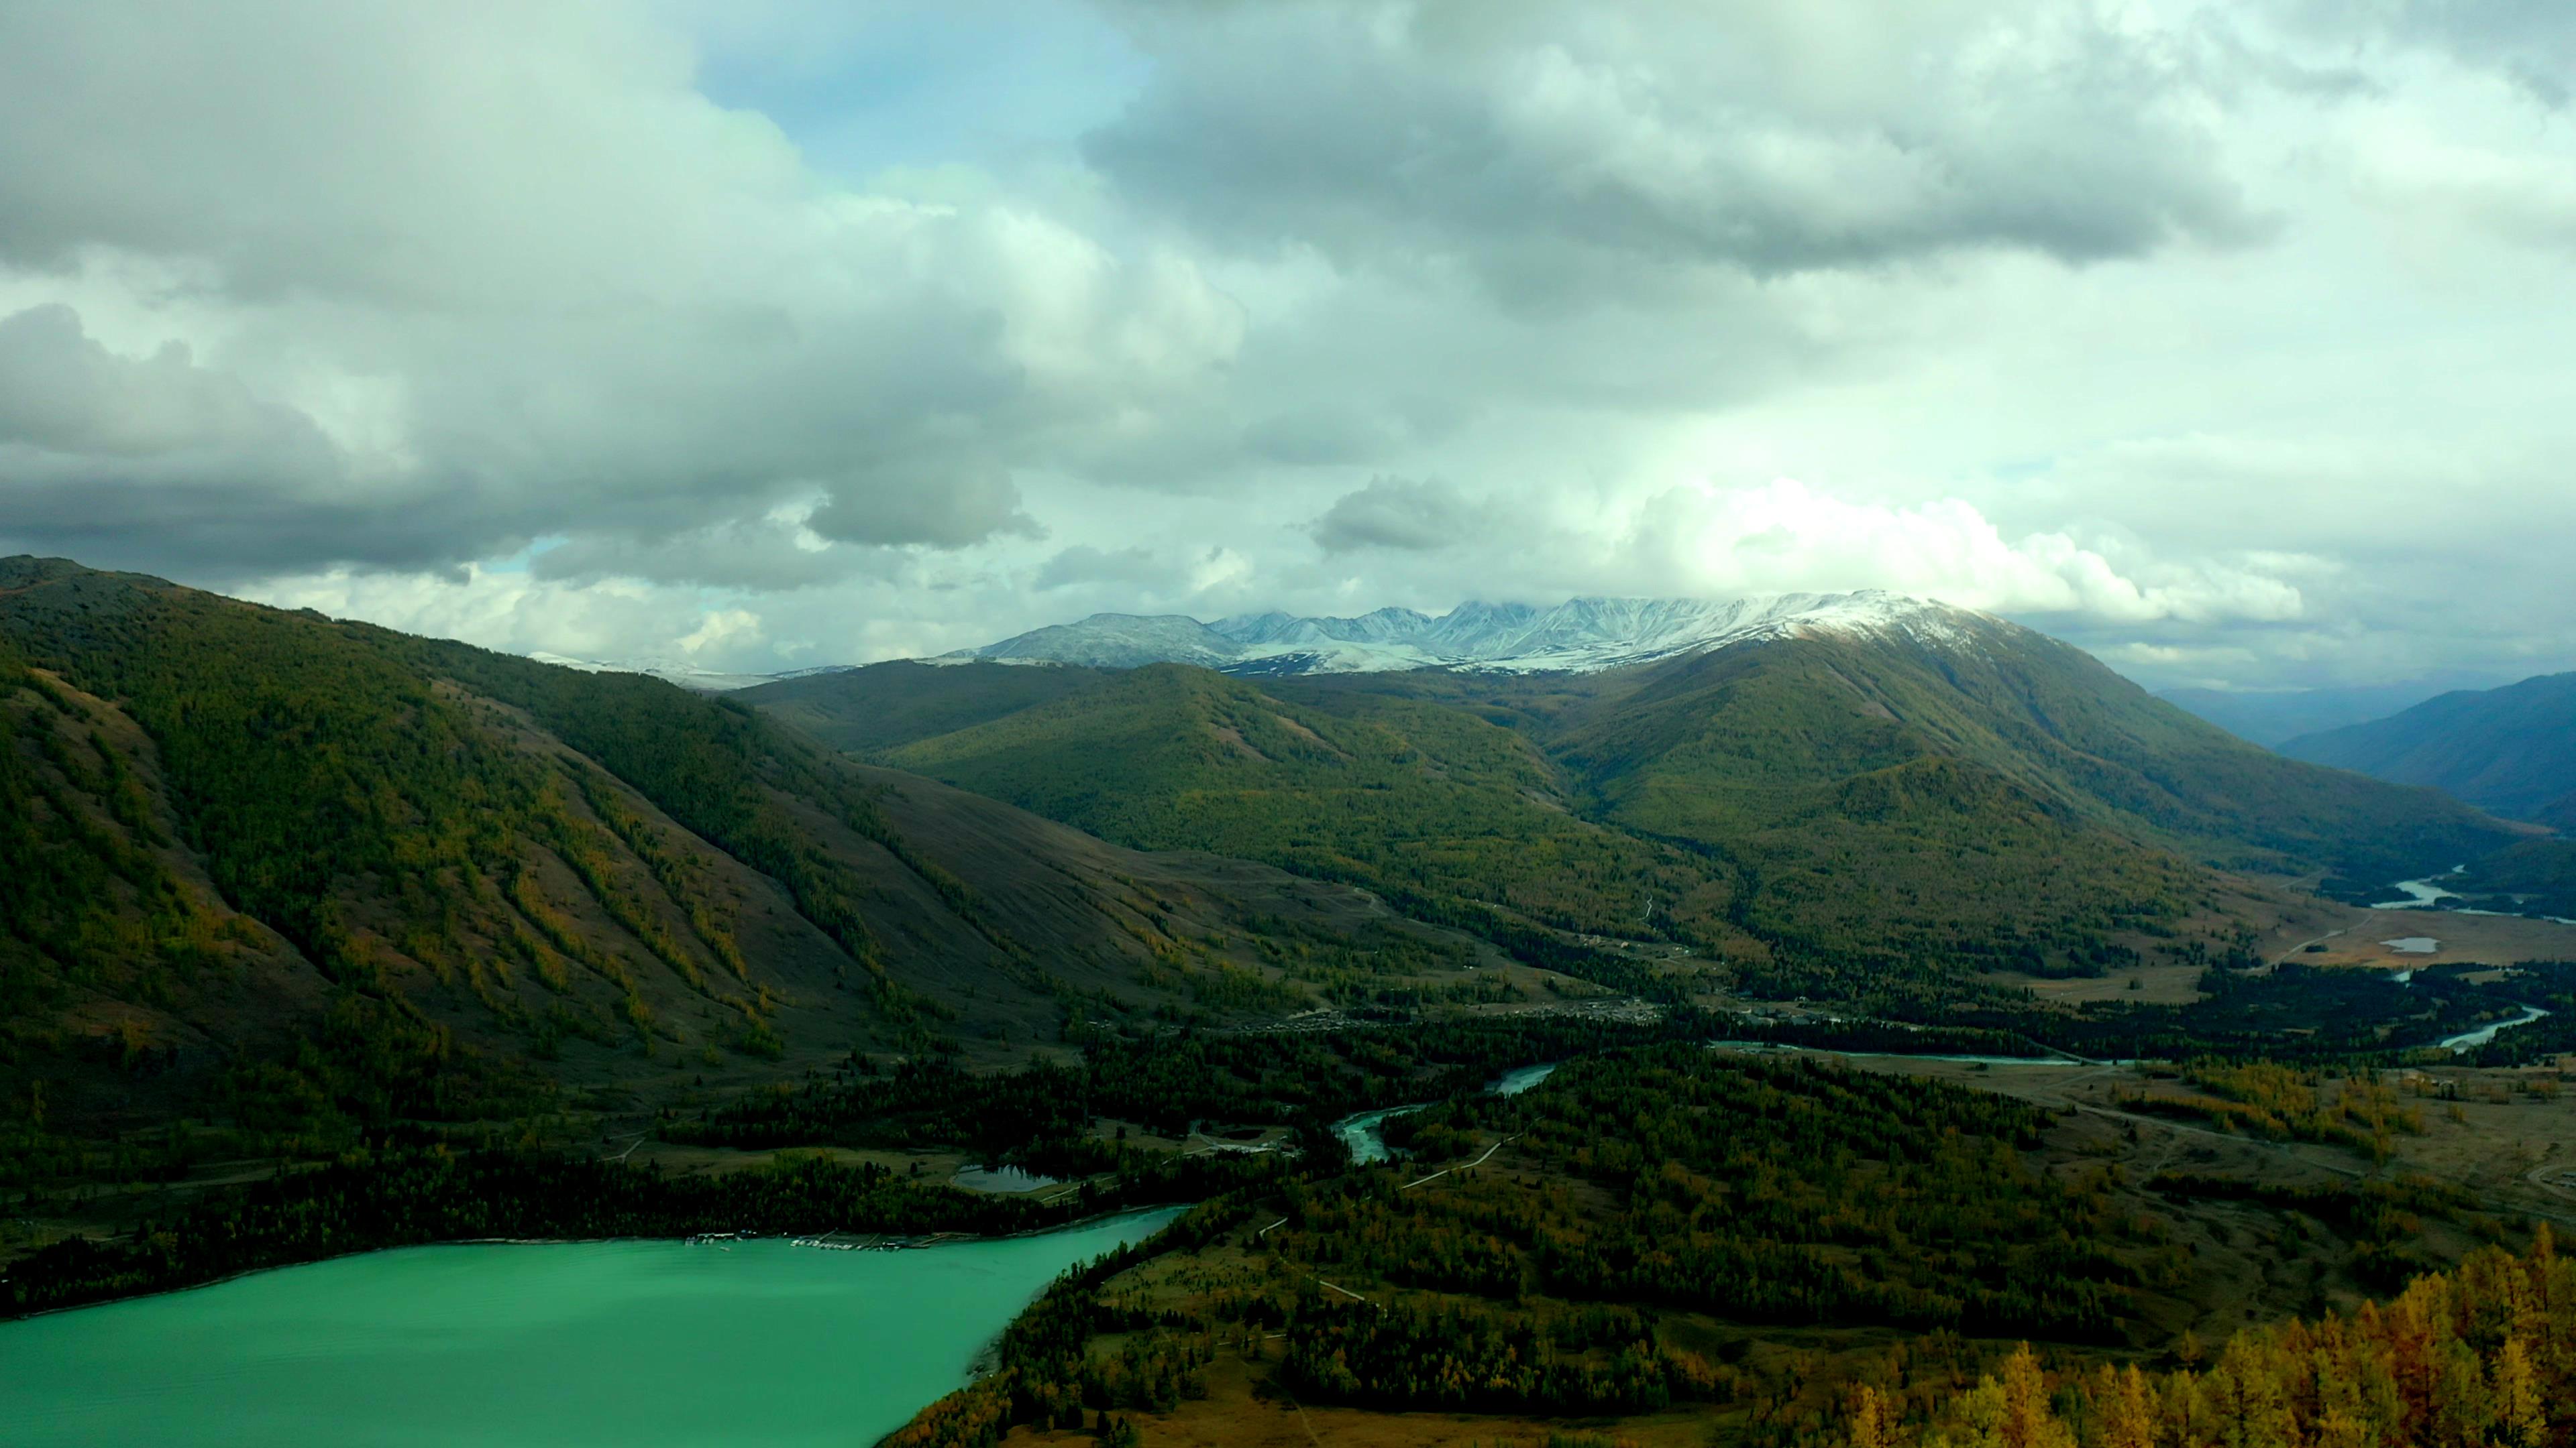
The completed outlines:
{"type": "Polygon", "coordinates": [[[0,559],[0,1167],[173,1110],[330,1149],[1018,1059],[1077,1007],[1275,1015],[1314,997],[1267,935],[1386,930],[659,680],[59,559],[0,559]]]}

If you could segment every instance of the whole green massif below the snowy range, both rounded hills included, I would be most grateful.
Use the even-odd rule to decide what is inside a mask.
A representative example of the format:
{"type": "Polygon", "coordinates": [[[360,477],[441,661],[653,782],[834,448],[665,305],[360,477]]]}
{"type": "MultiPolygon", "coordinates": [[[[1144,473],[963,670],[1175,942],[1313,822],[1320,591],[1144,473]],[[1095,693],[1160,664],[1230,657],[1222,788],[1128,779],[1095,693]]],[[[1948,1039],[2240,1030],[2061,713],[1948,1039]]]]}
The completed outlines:
{"type": "MultiPolygon", "coordinates": [[[[829,683],[914,719],[1005,703],[951,675],[829,683]]],[[[1935,642],[1806,631],[1597,675],[1154,665],[884,757],[1128,845],[1667,938],[1772,987],[2092,971],[2223,943],[2210,866],[2391,881],[2514,837],[1965,611],[1935,642]]]]}

